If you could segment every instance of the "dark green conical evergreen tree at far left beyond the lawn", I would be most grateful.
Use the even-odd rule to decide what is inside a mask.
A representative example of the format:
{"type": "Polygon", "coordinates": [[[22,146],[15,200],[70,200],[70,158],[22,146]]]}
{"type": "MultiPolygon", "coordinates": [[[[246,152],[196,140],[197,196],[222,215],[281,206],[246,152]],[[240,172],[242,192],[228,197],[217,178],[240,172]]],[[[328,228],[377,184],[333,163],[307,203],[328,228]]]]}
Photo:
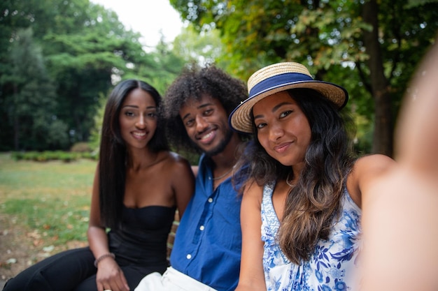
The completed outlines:
{"type": "Polygon", "coordinates": [[[3,76],[2,80],[13,89],[13,94],[6,98],[5,108],[13,124],[15,149],[65,146],[68,142],[65,124],[47,114],[55,109],[55,87],[30,28],[17,31],[10,61],[11,75],[3,76]]]}

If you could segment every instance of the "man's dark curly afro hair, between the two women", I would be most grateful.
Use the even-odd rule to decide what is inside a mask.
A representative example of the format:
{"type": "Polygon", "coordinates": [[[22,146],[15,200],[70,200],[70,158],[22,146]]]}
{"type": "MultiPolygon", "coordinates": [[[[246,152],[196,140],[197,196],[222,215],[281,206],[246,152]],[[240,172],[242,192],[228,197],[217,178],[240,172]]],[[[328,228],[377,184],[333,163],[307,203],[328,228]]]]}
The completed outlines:
{"type": "Polygon", "coordinates": [[[190,140],[179,111],[188,101],[201,100],[204,95],[218,99],[227,114],[248,97],[245,84],[241,80],[231,77],[216,66],[192,66],[186,69],[171,84],[164,96],[167,140],[177,150],[195,151],[196,154],[201,152],[190,140]]]}

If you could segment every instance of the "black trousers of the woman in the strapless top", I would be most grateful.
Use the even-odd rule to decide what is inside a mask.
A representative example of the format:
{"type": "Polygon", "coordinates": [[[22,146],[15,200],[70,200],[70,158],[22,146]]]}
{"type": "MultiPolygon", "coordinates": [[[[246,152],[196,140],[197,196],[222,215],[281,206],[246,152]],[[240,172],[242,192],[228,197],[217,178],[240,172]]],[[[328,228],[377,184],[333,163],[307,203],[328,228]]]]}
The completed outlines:
{"type": "MultiPolygon", "coordinates": [[[[120,268],[131,290],[146,275],[136,266],[120,265],[120,268]]],[[[11,278],[3,291],[93,291],[97,290],[96,271],[90,248],[77,248],[52,255],[25,269],[11,278]]]]}

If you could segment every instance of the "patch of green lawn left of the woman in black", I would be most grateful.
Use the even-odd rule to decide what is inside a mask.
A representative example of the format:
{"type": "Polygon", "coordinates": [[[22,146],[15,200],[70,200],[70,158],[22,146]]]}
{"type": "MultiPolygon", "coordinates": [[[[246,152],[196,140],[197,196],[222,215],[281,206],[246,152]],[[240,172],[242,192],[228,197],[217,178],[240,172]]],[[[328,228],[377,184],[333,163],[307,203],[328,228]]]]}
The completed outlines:
{"type": "Polygon", "coordinates": [[[0,214],[43,245],[86,241],[96,161],[14,161],[0,154],[0,214]]]}

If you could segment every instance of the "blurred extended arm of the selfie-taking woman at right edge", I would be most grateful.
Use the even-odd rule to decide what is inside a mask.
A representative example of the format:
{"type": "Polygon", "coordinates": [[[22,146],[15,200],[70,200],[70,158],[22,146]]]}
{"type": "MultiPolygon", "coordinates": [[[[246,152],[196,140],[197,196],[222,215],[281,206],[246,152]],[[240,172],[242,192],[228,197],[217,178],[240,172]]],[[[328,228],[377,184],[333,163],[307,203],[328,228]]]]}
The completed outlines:
{"type": "Polygon", "coordinates": [[[399,166],[364,205],[362,291],[438,290],[438,43],[417,70],[395,135],[399,166]]]}

